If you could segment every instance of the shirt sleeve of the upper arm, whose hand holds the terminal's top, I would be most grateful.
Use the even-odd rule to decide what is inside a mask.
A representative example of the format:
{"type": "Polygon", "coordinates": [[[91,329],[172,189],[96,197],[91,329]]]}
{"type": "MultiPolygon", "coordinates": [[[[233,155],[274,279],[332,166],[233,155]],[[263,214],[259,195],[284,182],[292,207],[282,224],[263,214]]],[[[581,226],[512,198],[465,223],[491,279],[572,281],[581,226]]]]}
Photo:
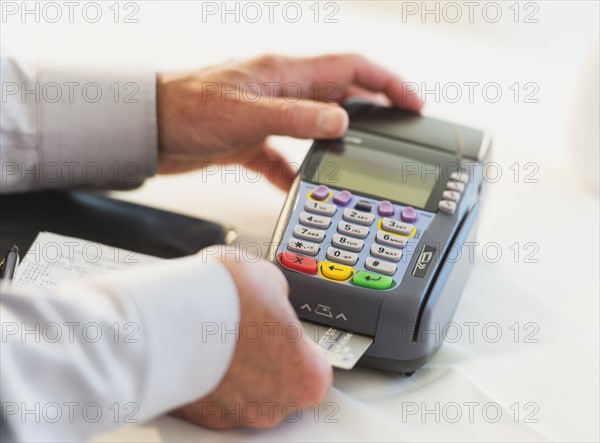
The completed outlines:
{"type": "Polygon", "coordinates": [[[156,74],[1,57],[1,192],[133,188],[158,156],[156,74]]]}

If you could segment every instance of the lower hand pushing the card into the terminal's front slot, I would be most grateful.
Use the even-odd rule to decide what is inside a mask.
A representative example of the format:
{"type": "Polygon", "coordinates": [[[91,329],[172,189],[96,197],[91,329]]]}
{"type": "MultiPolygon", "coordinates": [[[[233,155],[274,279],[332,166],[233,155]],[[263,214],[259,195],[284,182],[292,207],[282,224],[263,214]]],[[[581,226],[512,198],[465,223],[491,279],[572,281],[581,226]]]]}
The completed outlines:
{"type": "MultiPolygon", "coordinates": [[[[229,255],[229,254],[228,254],[229,255]]],[[[221,383],[172,412],[213,429],[268,428],[320,401],[332,383],[323,352],[302,331],[287,281],[271,263],[230,260],[240,300],[238,343],[221,383]]]]}

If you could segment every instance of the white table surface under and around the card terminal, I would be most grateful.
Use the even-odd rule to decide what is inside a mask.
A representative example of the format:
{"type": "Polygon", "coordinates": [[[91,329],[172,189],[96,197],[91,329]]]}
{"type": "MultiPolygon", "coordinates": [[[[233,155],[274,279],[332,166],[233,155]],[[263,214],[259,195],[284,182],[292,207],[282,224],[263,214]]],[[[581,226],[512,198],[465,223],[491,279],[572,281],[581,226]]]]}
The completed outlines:
{"type": "MultiPolygon", "coordinates": [[[[198,4],[152,2],[139,3],[141,20],[129,28],[5,27],[3,38],[12,33],[23,51],[173,69],[265,52],[360,51],[428,87],[497,82],[507,97],[488,103],[476,96],[473,103],[454,104],[429,97],[424,111],[489,130],[502,171],[502,178],[489,184],[478,232],[478,241],[497,243],[502,257],[492,262],[481,248],[476,253],[455,315],[460,340],[446,342],[411,378],[360,367],[336,370],[318,415],[306,411],[298,422],[272,430],[212,432],[165,416],[94,441],[598,441],[599,199],[574,167],[578,146],[571,129],[584,117],[575,91],[598,43],[598,3],[537,2],[537,24],[479,18],[462,25],[403,23],[400,6],[391,3],[338,3],[338,24],[202,23],[198,4]],[[74,39],[74,33],[86,38],[74,39]],[[535,82],[539,102],[514,103],[508,88],[515,82],[535,82]],[[510,169],[515,162],[521,171],[516,182],[510,169]],[[525,183],[523,173],[533,171],[524,169],[526,163],[535,165],[527,167],[536,168],[537,183],[525,183]],[[509,249],[515,242],[516,262],[509,249]],[[524,249],[525,244],[535,249],[524,249]],[[536,263],[525,262],[531,251],[536,263]],[[469,322],[481,325],[472,339],[469,322]],[[489,340],[494,331],[482,333],[493,323],[502,333],[496,343],[489,340]],[[528,332],[536,342],[526,342],[528,332]],[[437,416],[422,414],[436,404],[437,416]],[[468,404],[474,405],[471,420],[468,404]],[[496,406],[501,418],[492,422],[496,406]],[[418,413],[410,415],[414,408],[418,413]],[[453,423],[457,411],[462,416],[453,423]]],[[[504,14],[511,12],[509,5],[502,3],[504,14]]],[[[274,143],[296,163],[310,144],[286,138],[274,143]]],[[[239,180],[202,171],[156,177],[138,190],[114,195],[232,223],[245,244],[269,241],[285,197],[264,181],[243,180],[242,171],[239,180]]]]}

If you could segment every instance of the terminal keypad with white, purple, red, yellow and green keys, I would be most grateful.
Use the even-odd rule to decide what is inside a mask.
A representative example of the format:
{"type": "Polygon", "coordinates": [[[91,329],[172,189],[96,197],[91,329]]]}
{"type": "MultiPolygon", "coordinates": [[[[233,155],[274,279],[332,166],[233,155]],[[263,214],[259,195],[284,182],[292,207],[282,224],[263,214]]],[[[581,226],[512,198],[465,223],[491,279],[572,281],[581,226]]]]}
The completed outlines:
{"type": "Polygon", "coordinates": [[[434,216],[301,182],[277,260],[284,268],[314,278],[378,291],[393,289],[434,216]]]}

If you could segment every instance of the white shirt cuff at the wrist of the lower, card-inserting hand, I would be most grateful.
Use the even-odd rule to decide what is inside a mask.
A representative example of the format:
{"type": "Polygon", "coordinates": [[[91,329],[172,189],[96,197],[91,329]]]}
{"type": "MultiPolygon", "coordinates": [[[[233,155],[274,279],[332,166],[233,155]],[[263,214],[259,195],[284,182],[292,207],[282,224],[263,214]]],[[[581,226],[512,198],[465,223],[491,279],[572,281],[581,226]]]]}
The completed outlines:
{"type": "Polygon", "coordinates": [[[143,420],[216,388],[233,358],[240,318],[235,283],[221,262],[198,255],[165,260],[100,282],[128,295],[140,313],[143,420]]]}

